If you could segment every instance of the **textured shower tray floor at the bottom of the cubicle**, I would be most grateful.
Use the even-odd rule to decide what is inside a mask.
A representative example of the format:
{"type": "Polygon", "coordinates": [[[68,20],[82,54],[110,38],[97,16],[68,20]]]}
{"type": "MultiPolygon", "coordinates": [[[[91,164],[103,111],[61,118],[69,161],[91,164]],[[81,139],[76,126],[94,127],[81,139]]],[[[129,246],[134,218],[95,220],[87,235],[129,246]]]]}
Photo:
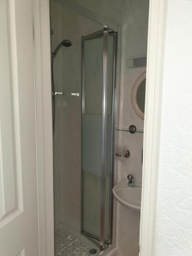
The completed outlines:
{"type": "Polygon", "coordinates": [[[89,253],[90,249],[90,246],[67,234],[62,229],[55,230],[55,256],[90,256],[93,255],[89,253]]]}

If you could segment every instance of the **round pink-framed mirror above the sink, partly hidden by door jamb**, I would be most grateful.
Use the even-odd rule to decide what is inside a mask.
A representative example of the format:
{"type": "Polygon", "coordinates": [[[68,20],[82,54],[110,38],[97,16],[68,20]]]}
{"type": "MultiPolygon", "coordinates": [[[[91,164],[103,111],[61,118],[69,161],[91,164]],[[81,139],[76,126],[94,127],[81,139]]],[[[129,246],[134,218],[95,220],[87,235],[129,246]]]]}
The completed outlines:
{"type": "Polygon", "coordinates": [[[133,109],[136,114],[144,119],[144,110],[145,110],[145,84],[146,84],[146,72],[142,73],[137,80],[135,81],[132,93],[131,101],[133,109]]]}

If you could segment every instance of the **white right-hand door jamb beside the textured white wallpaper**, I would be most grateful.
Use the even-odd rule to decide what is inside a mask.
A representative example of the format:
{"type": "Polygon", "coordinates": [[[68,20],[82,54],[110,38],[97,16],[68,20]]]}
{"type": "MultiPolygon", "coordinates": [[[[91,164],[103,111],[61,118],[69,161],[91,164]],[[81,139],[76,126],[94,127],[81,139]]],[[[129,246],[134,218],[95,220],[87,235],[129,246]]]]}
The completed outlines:
{"type": "Polygon", "coordinates": [[[150,0],[139,255],[154,256],[167,0],[150,0]]]}

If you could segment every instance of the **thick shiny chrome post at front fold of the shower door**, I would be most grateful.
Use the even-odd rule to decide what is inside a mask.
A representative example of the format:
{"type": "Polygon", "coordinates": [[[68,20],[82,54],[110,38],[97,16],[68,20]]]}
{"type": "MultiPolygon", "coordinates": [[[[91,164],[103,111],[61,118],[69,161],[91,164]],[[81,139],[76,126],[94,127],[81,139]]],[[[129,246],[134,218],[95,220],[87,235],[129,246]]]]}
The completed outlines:
{"type": "Polygon", "coordinates": [[[102,145],[101,145],[101,198],[100,198],[100,250],[104,250],[104,204],[106,172],[106,118],[108,81],[108,37],[109,28],[103,31],[103,98],[102,98],[102,145]]]}

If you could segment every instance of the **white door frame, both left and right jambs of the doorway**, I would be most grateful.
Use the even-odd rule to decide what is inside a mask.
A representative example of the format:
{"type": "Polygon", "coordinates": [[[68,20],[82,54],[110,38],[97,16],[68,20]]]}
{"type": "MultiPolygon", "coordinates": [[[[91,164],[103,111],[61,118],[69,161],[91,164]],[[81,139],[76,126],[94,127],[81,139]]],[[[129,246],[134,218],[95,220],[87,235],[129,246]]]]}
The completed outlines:
{"type": "MultiPolygon", "coordinates": [[[[154,255],[164,34],[167,0],[150,0],[147,46],[140,255],[154,255]]],[[[39,254],[54,255],[53,139],[49,0],[33,0],[39,254]]]]}

